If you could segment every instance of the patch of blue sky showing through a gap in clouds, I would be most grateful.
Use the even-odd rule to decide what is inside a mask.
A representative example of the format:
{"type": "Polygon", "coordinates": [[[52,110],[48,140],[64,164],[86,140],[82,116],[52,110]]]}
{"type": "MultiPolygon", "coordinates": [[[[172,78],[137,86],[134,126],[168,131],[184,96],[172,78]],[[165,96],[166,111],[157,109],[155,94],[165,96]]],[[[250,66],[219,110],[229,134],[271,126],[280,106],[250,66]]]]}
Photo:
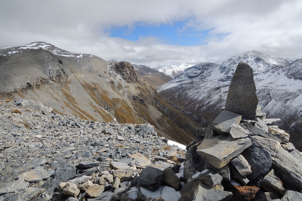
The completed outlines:
{"type": "Polygon", "coordinates": [[[205,38],[209,35],[210,30],[185,28],[185,23],[185,21],[161,25],[136,23],[131,27],[114,27],[107,31],[110,33],[110,37],[120,37],[130,41],[137,41],[141,37],[155,37],[160,39],[163,44],[170,45],[192,46],[206,44],[205,38]]]}

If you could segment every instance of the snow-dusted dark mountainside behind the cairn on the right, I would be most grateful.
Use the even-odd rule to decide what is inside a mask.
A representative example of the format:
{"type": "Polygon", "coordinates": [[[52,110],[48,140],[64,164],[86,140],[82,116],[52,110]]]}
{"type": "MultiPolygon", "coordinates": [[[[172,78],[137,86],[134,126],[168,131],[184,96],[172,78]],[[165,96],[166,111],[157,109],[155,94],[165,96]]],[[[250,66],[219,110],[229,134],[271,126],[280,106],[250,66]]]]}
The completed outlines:
{"type": "Polygon", "coordinates": [[[253,68],[262,111],[268,118],[280,118],[278,126],[289,132],[290,140],[301,150],[302,59],[289,63],[286,59],[249,51],[221,65],[201,63],[187,68],[158,92],[205,127],[224,107],[230,81],[241,61],[253,68]]]}

